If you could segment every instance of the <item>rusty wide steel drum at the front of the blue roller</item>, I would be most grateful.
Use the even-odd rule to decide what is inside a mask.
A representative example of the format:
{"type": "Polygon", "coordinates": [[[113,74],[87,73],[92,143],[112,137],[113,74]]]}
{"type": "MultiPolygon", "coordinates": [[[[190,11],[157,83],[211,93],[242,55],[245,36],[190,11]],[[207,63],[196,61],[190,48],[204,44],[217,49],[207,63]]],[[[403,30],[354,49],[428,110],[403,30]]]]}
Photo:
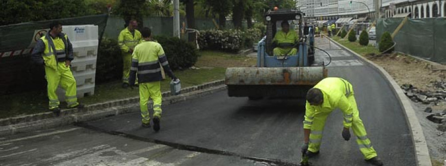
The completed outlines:
{"type": "Polygon", "coordinates": [[[225,84],[230,97],[304,98],[325,77],[322,66],[233,67],[226,69],[225,84]]]}

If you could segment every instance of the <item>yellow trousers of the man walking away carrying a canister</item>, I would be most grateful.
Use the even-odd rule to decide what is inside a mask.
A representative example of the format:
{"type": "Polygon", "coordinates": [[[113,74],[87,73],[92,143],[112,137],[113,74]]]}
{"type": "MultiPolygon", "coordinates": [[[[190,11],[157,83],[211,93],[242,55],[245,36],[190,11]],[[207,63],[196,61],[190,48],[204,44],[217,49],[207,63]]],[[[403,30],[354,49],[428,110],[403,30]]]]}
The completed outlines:
{"type": "Polygon", "coordinates": [[[149,99],[153,101],[153,116],[161,118],[161,81],[140,83],[139,85],[139,105],[143,123],[150,122],[150,113],[147,107],[149,99]]]}

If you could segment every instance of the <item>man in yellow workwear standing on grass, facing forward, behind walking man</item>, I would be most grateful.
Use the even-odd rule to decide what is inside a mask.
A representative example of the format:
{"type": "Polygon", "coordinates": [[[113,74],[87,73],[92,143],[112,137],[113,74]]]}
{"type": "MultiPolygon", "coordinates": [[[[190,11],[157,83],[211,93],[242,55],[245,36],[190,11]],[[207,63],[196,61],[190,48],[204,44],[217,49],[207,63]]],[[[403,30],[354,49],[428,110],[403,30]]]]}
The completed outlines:
{"type": "Polygon", "coordinates": [[[132,53],[141,42],[141,33],[136,30],[138,22],[131,19],[128,26],[119,33],[118,44],[122,52],[122,88],[128,87],[128,78],[132,64],[132,53]]]}

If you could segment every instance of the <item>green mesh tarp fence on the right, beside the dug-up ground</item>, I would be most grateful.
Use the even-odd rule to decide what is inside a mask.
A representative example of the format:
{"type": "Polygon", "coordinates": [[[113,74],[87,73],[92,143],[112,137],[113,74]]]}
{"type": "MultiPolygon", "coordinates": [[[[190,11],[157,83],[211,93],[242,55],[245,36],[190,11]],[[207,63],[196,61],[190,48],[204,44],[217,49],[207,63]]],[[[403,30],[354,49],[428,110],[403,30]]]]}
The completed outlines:
{"type": "MultiPolygon", "coordinates": [[[[378,20],[377,41],[381,35],[393,31],[404,18],[378,20]]],[[[395,51],[446,64],[446,18],[409,19],[396,34],[395,51]]]]}

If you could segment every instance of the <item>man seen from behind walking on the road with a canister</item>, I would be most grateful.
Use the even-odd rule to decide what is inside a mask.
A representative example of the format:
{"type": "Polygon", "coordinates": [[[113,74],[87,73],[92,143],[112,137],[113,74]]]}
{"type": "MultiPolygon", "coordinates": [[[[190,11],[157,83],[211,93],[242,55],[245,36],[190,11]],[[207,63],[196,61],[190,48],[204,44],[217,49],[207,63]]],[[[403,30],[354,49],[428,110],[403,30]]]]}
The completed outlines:
{"type": "Polygon", "coordinates": [[[147,108],[149,98],[153,100],[153,129],[160,130],[161,120],[161,65],[167,75],[173,80],[177,80],[167,62],[167,57],[163,47],[152,41],[150,28],[144,27],[141,31],[144,41],[135,47],[132,55],[132,67],[130,70],[129,84],[135,84],[135,75],[138,74],[139,104],[142,116],[142,126],[151,127],[150,113],[147,108]]]}

